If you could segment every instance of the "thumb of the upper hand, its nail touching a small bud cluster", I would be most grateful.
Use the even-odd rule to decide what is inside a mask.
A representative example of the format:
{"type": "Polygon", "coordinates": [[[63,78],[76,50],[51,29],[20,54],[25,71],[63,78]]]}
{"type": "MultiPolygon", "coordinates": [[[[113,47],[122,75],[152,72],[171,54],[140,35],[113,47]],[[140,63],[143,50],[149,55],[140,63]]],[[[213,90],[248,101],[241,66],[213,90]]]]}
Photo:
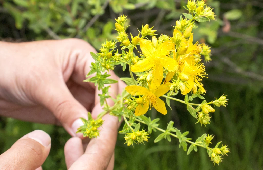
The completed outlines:
{"type": "Polygon", "coordinates": [[[64,81],[46,84],[37,95],[39,102],[55,115],[67,132],[76,136],[77,128],[84,125],[80,117],[88,119],[88,111],[74,98],[64,81]]]}

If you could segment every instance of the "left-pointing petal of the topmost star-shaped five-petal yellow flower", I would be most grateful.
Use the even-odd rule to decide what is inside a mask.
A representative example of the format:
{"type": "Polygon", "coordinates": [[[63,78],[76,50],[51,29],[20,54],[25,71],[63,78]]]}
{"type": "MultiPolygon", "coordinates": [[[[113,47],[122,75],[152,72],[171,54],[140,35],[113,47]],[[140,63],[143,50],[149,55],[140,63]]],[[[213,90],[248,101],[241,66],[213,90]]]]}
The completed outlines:
{"type": "Polygon", "coordinates": [[[132,72],[144,72],[146,70],[149,70],[150,68],[154,67],[154,61],[152,59],[142,59],[139,60],[136,64],[131,66],[132,72]]]}

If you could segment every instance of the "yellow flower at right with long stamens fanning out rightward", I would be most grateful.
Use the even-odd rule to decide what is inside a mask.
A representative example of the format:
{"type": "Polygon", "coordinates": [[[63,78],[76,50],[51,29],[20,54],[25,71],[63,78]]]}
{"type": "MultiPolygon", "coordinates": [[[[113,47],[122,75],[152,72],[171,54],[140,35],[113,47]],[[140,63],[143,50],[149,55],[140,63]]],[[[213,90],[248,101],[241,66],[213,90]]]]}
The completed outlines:
{"type": "Polygon", "coordinates": [[[208,77],[206,77],[207,74],[205,73],[205,66],[203,63],[199,63],[199,61],[192,61],[188,64],[188,62],[185,61],[182,73],[188,75],[189,78],[189,80],[187,80],[187,84],[185,84],[187,87],[185,87],[185,91],[182,93],[183,95],[188,94],[192,90],[194,83],[196,83],[196,85],[201,89],[201,92],[205,93],[201,80],[202,78],[208,77]]]}

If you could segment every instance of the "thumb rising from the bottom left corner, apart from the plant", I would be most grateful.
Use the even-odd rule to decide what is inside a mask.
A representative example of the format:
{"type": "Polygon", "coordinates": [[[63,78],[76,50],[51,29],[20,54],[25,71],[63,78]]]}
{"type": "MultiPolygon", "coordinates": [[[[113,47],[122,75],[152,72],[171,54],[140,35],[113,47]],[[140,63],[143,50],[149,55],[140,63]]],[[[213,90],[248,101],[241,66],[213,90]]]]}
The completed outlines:
{"type": "Polygon", "coordinates": [[[35,170],[46,160],[50,147],[49,135],[42,130],[35,130],[20,138],[0,155],[0,167],[10,170],[35,170]]]}

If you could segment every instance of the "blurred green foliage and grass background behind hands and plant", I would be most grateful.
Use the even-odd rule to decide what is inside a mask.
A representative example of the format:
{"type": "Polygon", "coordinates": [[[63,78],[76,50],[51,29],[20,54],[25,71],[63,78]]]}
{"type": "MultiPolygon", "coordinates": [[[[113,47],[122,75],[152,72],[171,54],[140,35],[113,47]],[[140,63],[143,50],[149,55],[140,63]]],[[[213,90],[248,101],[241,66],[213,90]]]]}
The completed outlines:
{"type": "MultiPolygon", "coordinates": [[[[263,169],[263,2],[206,2],[214,8],[216,21],[198,24],[199,28],[193,30],[195,41],[212,46],[213,60],[205,63],[209,77],[203,80],[205,98],[212,101],[225,93],[229,99],[227,107],[216,109],[207,128],[195,124],[184,104],[173,101],[173,110],[167,115],[152,109],[146,116],[159,117],[162,128],[173,120],[175,127],[189,131],[188,136],[194,140],[204,133],[213,134],[213,144],[222,141],[229,146],[229,157],[224,157],[220,167],[213,167],[205,149],[186,155],[175,138],[171,142],[153,143],[159,132],[151,134],[145,145],[134,148],[127,147],[124,135],[120,134],[115,169],[263,169]]],[[[137,28],[142,23],[154,26],[159,35],[172,35],[171,25],[186,12],[183,8],[186,3],[185,0],[0,0],[0,39],[26,42],[77,37],[98,49],[106,39],[115,39],[114,18],[120,14],[128,15],[131,25],[128,32],[133,35],[138,35],[137,28]]],[[[183,99],[181,95],[177,97],[183,99]]],[[[70,136],[54,125],[0,117],[0,154],[35,129],[46,131],[52,138],[43,169],[66,169],[63,147],[70,136]]]]}

